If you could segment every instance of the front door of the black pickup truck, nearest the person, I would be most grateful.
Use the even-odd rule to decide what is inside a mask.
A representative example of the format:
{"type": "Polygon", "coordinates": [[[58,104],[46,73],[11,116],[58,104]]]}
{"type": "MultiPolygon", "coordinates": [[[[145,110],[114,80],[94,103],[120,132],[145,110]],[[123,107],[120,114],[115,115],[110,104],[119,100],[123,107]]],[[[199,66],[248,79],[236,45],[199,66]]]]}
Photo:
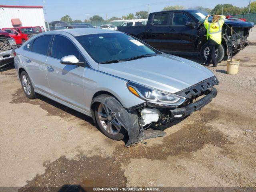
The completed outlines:
{"type": "Polygon", "coordinates": [[[187,22],[194,22],[194,20],[184,12],[173,12],[169,32],[170,50],[187,52],[195,50],[197,28],[187,26],[187,22]]]}

